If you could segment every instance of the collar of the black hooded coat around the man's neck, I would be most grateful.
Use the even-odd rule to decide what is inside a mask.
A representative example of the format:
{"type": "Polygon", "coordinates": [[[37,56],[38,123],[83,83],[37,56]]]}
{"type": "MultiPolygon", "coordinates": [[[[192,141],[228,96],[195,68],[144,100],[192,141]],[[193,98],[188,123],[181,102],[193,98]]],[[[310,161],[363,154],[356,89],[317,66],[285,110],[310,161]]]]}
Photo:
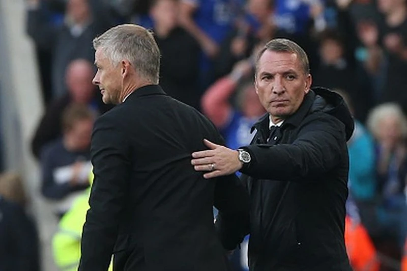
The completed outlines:
{"type": "MultiPolygon", "coordinates": [[[[310,90],[305,96],[304,100],[301,103],[299,109],[297,110],[296,113],[288,117],[286,120],[284,120],[281,129],[284,129],[287,125],[293,125],[297,127],[298,125],[301,124],[301,121],[305,118],[305,116],[308,114],[313,102],[315,99],[315,93],[310,90]]],[[[269,113],[266,113],[263,117],[259,119],[258,122],[256,122],[252,127],[251,127],[251,132],[253,132],[254,129],[257,130],[263,130],[266,131],[269,129],[269,113]]]]}

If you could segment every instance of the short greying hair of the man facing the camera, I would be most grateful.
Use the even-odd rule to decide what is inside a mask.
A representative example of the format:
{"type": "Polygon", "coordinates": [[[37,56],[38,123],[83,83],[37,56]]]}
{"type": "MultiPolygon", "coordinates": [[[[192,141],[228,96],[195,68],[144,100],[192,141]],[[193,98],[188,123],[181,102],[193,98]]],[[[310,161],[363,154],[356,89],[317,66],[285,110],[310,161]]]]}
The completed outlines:
{"type": "Polygon", "coordinates": [[[301,48],[300,45],[295,43],[294,41],[288,40],[288,39],[272,39],[266,45],[263,47],[258,52],[257,59],[256,59],[256,72],[257,72],[257,65],[258,61],[260,60],[261,56],[263,56],[263,53],[265,51],[273,51],[273,52],[289,52],[289,53],[295,53],[301,62],[301,67],[304,71],[305,74],[308,74],[310,72],[309,70],[309,61],[308,61],[308,56],[307,53],[304,51],[303,48],[301,48]]]}

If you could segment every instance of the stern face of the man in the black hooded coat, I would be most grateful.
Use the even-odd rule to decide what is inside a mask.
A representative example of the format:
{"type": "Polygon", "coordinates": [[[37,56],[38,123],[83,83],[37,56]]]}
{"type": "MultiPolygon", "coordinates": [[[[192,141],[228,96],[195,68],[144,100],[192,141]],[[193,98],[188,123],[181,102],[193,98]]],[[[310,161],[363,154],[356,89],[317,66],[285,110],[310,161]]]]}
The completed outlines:
{"type": "Polygon", "coordinates": [[[258,61],[256,93],[261,104],[279,122],[293,115],[311,86],[296,53],[266,50],[258,61]]]}

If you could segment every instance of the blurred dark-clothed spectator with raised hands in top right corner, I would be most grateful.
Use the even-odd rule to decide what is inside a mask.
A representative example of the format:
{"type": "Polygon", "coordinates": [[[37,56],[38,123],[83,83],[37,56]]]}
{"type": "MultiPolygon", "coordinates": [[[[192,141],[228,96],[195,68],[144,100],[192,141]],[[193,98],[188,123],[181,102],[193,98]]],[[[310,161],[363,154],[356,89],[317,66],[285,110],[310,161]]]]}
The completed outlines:
{"type": "MultiPolygon", "coordinates": [[[[404,0],[378,0],[383,19],[358,23],[366,45],[366,64],[379,81],[377,103],[396,102],[407,112],[407,4],[404,0]]],[[[363,53],[360,51],[359,53],[363,53]]]]}

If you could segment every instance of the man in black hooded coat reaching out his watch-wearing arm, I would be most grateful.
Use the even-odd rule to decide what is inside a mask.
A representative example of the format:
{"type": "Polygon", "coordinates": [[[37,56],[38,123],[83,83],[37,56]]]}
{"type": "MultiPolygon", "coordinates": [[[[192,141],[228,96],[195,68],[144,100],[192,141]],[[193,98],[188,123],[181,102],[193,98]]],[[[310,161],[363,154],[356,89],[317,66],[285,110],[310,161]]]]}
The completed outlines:
{"type": "MultiPolygon", "coordinates": [[[[352,270],[344,243],[348,154],[354,121],[342,97],[312,88],[304,50],[273,39],[259,52],[254,86],[267,114],[249,146],[210,150],[191,161],[205,178],[240,171],[250,195],[252,271],[352,270]]],[[[236,237],[217,225],[223,238],[236,237]]],[[[231,242],[232,243],[232,242],[231,242]]],[[[233,246],[232,246],[233,247],[233,246]]]]}

